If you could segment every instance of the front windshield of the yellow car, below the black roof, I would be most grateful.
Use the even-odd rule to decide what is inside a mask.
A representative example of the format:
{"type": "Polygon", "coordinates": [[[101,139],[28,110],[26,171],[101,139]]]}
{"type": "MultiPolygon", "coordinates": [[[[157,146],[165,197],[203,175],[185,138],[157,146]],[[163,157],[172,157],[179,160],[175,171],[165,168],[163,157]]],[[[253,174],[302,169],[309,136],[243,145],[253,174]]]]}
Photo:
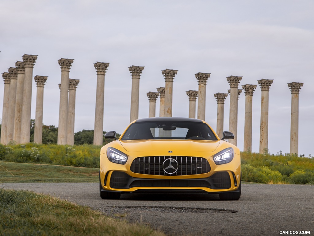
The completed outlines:
{"type": "Polygon", "coordinates": [[[138,139],[217,140],[207,124],[184,121],[135,122],[129,126],[121,138],[121,140],[138,139]]]}

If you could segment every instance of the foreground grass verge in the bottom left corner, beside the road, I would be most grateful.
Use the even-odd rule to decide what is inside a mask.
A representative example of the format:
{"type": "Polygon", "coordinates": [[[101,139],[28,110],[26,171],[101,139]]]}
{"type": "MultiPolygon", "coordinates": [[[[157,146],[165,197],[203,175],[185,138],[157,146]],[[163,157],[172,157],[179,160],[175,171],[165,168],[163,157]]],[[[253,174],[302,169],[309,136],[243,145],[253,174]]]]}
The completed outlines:
{"type": "Polygon", "coordinates": [[[89,207],[29,191],[0,189],[1,235],[165,236],[140,223],[129,224],[89,207]]]}

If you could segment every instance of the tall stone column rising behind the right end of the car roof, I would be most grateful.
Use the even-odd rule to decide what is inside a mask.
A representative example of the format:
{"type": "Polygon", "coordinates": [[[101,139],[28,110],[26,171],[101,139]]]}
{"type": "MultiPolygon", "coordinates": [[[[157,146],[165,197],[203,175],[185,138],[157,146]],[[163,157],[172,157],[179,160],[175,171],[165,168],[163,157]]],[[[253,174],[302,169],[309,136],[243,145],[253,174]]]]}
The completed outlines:
{"type": "Polygon", "coordinates": [[[195,78],[198,80],[198,106],[197,118],[205,121],[206,108],[206,83],[210,73],[197,73],[195,78]]]}

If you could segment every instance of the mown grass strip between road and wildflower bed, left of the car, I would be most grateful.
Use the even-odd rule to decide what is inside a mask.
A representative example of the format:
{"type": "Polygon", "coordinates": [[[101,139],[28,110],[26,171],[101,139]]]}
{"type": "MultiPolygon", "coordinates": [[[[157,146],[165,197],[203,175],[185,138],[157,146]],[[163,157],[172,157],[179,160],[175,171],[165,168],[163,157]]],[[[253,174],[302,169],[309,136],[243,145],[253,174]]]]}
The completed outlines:
{"type": "Polygon", "coordinates": [[[98,181],[98,168],[0,161],[0,183],[96,183],[98,181]]]}

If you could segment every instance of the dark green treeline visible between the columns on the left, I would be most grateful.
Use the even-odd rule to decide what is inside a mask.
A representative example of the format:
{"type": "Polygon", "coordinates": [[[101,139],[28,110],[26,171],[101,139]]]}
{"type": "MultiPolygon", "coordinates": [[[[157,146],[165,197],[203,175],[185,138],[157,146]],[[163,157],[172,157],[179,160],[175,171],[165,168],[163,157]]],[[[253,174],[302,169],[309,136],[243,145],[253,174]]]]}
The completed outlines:
{"type": "MultiPolygon", "coordinates": [[[[34,129],[35,129],[35,120],[30,120],[30,142],[34,142],[34,129]]],[[[1,131],[1,125],[0,125],[1,131]]],[[[106,132],[104,131],[104,134],[106,132]]],[[[119,138],[120,134],[117,134],[119,138]]],[[[42,144],[57,144],[58,140],[58,127],[54,125],[43,125],[42,126],[42,144]]],[[[103,137],[103,145],[109,143],[111,140],[105,139],[103,137]]],[[[14,143],[14,142],[13,142],[14,143]]],[[[82,144],[93,144],[94,143],[94,130],[82,130],[74,133],[74,145],[82,144]]]]}

